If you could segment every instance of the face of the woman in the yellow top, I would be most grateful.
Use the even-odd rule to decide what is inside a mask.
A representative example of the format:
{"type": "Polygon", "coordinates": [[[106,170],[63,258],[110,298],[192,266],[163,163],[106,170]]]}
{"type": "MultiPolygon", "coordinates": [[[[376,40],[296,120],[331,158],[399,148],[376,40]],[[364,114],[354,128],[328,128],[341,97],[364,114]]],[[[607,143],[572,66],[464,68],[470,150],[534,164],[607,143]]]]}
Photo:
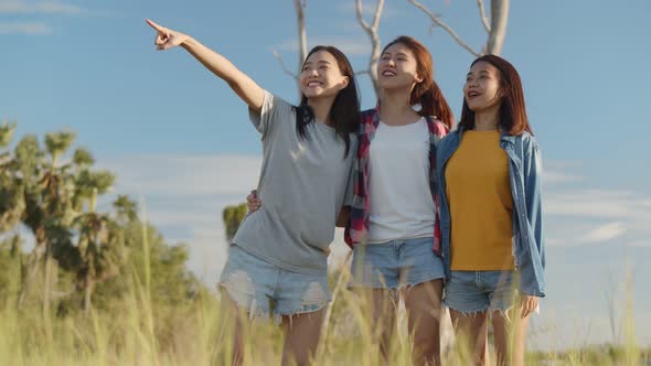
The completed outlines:
{"type": "Polygon", "coordinates": [[[472,65],[463,85],[463,97],[474,112],[499,106],[502,99],[500,71],[483,61],[472,65]]]}

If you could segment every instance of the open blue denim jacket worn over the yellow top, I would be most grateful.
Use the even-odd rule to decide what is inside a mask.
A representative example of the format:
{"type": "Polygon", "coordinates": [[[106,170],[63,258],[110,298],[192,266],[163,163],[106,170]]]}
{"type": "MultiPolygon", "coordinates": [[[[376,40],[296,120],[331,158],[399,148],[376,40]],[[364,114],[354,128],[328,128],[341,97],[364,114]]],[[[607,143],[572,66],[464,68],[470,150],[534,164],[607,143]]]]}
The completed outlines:
{"type": "MultiPolygon", "coordinates": [[[[446,136],[437,147],[437,187],[440,204],[442,254],[446,277],[450,271],[450,211],[446,190],[446,163],[459,148],[462,129],[446,136]]],[[[513,259],[520,272],[520,291],[545,295],[545,249],[543,239],[543,208],[541,202],[542,162],[535,138],[524,132],[509,136],[502,132],[500,148],[509,155],[509,177],[513,196],[513,259]]]]}

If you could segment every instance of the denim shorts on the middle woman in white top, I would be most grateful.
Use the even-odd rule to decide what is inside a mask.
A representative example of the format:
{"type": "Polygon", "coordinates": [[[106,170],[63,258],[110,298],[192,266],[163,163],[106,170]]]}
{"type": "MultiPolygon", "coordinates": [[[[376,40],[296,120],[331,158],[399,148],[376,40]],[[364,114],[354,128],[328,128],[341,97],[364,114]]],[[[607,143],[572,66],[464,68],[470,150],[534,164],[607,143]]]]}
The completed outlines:
{"type": "Polygon", "coordinates": [[[357,245],[349,287],[394,290],[442,279],[444,262],[433,245],[431,237],[357,245]]]}

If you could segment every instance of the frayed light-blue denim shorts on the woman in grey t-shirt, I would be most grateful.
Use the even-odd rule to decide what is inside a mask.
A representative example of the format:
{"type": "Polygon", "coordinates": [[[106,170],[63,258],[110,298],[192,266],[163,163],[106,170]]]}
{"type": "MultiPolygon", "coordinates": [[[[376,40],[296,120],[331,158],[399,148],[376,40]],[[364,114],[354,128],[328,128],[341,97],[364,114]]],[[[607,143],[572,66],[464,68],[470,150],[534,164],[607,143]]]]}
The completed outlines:
{"type": "Polygon", "coordinates": [[[220,287],[249,317],[311,313],[331,299],[328,272],[307,274],[285,270],[231,245],[220,287]]]}

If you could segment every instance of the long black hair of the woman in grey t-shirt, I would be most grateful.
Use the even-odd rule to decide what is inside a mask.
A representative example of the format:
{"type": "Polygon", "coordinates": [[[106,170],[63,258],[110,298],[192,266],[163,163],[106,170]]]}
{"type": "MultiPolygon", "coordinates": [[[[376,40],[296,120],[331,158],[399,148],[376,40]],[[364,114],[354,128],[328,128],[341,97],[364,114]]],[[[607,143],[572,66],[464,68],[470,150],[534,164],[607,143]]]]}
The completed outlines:
{"type": "MultiPolygon", "coordinates": [[[[337,134],[345,142],[344,157],[346,157],[351,144],[350,133],[357,132],[361,119],[360,97],[357,85],[355,83],[355,74],[353,73],[353,67],[348,57],[343,52],[333,46],[318,45],[313,47],[310,50],[310,53],[308,53],[303,64],[313,53],[319,51],[330,53],[337,60],[341,74],[349,78],[346,87],[339,90],[334,97],[334,103],[332,103],[332,107],[328,114],[328,120],[332,123],[337,134]]],[[[308,97],[306,97],[305,94],[301,94],[300,105],[296,107],[296,129],[302,138],[306,138],[306,127],[313,121],[314,111],[308,106],[308,97]]]]}

